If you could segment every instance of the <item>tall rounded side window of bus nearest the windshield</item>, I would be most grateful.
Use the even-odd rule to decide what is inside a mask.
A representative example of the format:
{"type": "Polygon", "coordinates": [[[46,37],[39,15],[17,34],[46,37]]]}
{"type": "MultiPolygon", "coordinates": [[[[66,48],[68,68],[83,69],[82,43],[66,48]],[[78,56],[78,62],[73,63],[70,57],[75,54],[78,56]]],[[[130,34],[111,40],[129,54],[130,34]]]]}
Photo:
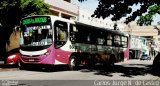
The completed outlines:
{"type": "Polygon", "coordinates": [[[55,47],[59,48],[67,42],[67,23],[55,22],[55,47]]]}

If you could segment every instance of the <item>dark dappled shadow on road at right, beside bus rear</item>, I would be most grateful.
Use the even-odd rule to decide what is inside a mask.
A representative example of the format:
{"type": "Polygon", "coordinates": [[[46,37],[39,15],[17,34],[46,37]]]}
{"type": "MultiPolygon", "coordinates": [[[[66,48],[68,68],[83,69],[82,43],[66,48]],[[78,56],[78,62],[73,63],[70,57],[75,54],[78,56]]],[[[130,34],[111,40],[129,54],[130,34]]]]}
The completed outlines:
{"type": "MultiPolygon", "coordinates": [[[[109,67],[97,66],[92,70],[81,70],[81,72],[95,72],[95,75],[104,75],[112,77],[114,73],[121,73],[122,77],[134,78],[134,76],[144,76],[146,74],[151,74],[155,76],[160,76],[152,72],[152,65],[145,64],[127,64],[127,65],[114,65],[109,67]]],[[[158,71],[156,71],[157,73],[158,71]]]]}

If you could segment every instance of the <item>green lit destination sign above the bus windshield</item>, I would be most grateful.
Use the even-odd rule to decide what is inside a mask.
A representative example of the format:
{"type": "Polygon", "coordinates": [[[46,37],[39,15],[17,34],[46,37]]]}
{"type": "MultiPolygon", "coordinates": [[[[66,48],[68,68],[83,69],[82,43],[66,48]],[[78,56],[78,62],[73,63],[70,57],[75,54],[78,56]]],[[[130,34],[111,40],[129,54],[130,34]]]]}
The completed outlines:
{"type": "Polygon", "coordinates": [[[23,25],[35,24],[35,23],[46,23],[47,17],[31,17],[22,20],[23,25]]]}

